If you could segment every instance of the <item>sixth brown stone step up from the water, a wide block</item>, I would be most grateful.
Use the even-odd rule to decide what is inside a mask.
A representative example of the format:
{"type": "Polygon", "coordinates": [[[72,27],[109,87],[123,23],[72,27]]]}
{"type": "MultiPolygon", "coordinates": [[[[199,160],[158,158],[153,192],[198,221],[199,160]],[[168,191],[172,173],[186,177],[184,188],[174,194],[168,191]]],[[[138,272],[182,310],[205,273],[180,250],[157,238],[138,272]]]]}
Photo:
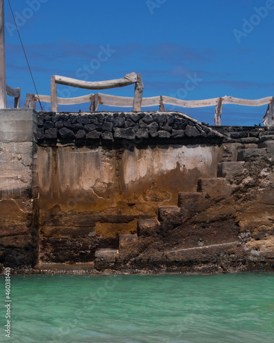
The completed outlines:
{"type": "Polygon", "coordinates": [[[200,178],[197,190],[206,198],[219,200],[231,196],[233,188],[225,178],[200,178]]]}

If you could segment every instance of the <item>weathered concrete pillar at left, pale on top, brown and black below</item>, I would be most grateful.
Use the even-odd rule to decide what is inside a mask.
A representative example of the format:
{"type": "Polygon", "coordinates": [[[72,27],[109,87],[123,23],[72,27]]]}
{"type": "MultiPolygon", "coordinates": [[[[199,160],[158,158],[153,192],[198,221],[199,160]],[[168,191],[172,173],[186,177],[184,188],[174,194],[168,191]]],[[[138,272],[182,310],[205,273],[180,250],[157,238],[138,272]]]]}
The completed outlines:
{"type": "Polygon", "coordinates": [[[0,263],[34,265],[38,247],[37,113],[0,109],[0,263]]]}

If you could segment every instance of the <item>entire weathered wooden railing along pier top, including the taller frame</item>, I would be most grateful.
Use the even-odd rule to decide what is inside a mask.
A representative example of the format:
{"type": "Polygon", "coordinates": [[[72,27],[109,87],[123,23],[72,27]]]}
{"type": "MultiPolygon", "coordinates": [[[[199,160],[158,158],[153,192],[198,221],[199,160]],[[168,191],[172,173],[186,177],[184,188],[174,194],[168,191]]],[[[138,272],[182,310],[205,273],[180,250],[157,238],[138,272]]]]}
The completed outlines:
{"type": "MultiPolygon", "coordinates": [[[[215,106],[214,123],[216,126],[221,125],[221,114],[223,105],[235,104],[241,106],[262,106],[269,104],[266,115],[264,116],[264,125],[274,124],[274,102],[273,97],[264,97],[262,99],[240,99],[237,97],[214,97],[212,99],[203,100],[184,100],[175,97],[168,97],[159,95],[157,97],[142,97],[143,84],[140,74],[130,73],[125,75],[124,78],[117,80],[99,81],[99,82],[86,82],[64,76],[53,75],[51,76],[51,95],[39,95],[40,102],[51,103],[51,110],[58,112],[59,105],[74,105],[91,102],[90,111],[97,111],[99,104],[113,107],[133,107],[134,111],[140,111],[141,106],[159,106],[160,111],[165,110],[165,105],[173,105],[185,108],[198,108],[215,106]],[[102,93],[84,95],[82,97],[57,97],[57,84],[65,84],[68,86],[86,88],[86,89],[108,89],[115,87],[128,86],[129,84],[135,85],[134,97],[119,97],[115,95],[108,95],[102,93]]],[[[27,94],[25,107],[36,107],[38,95],[27,94]]]]}

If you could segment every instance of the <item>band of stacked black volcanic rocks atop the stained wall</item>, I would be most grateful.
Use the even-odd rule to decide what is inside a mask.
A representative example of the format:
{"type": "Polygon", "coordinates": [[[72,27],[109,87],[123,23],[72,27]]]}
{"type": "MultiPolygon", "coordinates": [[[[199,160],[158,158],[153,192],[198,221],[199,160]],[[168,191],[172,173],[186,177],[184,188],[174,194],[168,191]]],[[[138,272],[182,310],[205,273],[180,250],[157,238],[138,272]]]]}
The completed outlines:
{"type": "Polygon", "coordinates": [[[38,114],[38,143],[42,145],[121,142],[140,144],[220,143],[223,134],[182,113],[43,113],[38,114]]]}

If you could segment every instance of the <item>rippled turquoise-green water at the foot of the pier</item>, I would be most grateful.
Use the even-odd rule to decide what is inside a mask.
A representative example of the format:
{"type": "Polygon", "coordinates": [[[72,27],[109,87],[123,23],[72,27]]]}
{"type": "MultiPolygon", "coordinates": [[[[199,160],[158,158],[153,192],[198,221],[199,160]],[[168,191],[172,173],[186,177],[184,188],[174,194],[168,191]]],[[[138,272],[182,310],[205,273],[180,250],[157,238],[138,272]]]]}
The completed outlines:
{"type": "Polygon", "coordinates": [[[0,342],[274,342],[274,274],[14,275],[10,339],[2,286],[0,342]]]}

